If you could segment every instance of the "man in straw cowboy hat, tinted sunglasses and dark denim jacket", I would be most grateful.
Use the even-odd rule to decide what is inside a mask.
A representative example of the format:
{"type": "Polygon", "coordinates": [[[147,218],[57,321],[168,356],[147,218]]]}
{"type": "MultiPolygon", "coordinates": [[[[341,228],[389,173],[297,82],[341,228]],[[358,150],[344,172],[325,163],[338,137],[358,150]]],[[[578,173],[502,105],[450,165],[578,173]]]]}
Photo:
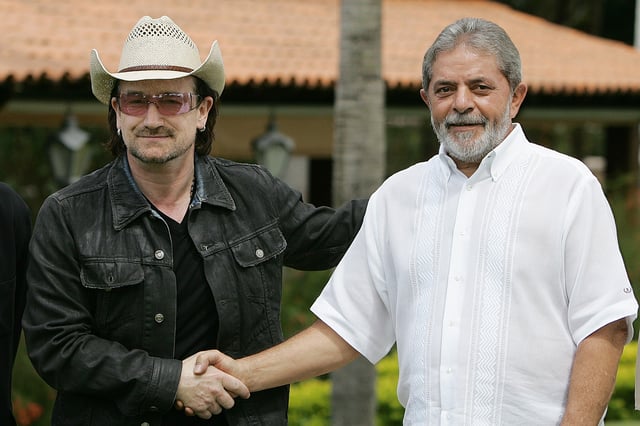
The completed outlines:
{"type": "Polygon", "coordinates": [[[283,265],[334,266],[365,202],[316,208],[259,166],[209,157],[220,50],[200,62],[168,17],[140,19],[116,73],[92,51],[91,83],[115,159],[44,202],[27,277],[27,347],[58,391],[52,424],[286,424],[287,387],[234,401],[223,386],[247,398],[241,382],[196,378],[181,360],[280,342],[283,265]]]}

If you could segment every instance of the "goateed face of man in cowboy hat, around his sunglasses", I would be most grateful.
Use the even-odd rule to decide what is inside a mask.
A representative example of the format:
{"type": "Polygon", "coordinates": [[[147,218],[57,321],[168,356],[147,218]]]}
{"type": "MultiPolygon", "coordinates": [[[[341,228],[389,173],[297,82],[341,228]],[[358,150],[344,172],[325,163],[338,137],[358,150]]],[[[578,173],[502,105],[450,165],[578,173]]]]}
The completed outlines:
{"type": "MultiPolygon", "coordinates": [[[[147,96],[167,93],[195,93],[193,77],[175,80],[120,81],[119,93],[147,96]]],[[[163,115],[155,104],[149,104],[140,116],[125,114],[113,98],[116,123],[122,131],[129,161],[144,164],[166,164],[172,160],[193,158],[196,132],[204,127],[213,100],[201,100],[193,110],[177,115],[163,115]]]]}

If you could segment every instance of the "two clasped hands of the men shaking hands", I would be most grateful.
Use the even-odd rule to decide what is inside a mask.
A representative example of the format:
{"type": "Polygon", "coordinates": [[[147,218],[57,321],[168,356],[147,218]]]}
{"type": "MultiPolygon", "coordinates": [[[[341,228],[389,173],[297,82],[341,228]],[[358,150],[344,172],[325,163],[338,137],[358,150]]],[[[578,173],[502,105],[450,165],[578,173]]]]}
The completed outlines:
{"type": "Polygon", "coordinates": [[[232,372],[235,361],[211,350],[182,361],[175,406],[188,416],[209,419],[235,405],[234,398],[249,398],[249,389],[232,372]]]}

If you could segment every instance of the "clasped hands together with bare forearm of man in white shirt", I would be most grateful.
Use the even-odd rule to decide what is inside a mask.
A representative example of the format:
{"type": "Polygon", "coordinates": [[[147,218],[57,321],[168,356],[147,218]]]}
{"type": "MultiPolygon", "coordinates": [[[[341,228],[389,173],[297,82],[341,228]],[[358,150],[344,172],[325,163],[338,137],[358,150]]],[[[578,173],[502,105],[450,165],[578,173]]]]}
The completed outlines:
{"type": "Polygon", "coordinates": [[[334,371],[360,354],[324,322],[263,352],[233,359],[220,351],[182,361],[175,406],[203,419],[234,406],[235,398],[334,371]]]}

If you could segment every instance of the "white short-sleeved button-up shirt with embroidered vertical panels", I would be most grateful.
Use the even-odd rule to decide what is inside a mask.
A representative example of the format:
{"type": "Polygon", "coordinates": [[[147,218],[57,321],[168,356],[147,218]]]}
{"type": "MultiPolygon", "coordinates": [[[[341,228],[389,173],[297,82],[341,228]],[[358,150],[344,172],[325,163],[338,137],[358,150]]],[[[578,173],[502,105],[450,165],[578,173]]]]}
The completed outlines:
{"type": "Polygon", "coordinates": [[[389,178],[312,311],[371,362],[397,341],[410,425],[553,425],[577,345],[638,305],[600,184],[519,125],[469,179],[389,178]]]}

